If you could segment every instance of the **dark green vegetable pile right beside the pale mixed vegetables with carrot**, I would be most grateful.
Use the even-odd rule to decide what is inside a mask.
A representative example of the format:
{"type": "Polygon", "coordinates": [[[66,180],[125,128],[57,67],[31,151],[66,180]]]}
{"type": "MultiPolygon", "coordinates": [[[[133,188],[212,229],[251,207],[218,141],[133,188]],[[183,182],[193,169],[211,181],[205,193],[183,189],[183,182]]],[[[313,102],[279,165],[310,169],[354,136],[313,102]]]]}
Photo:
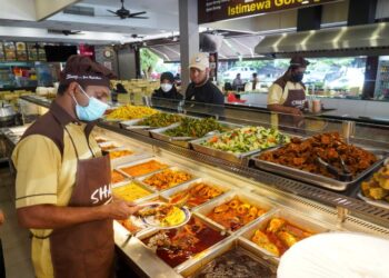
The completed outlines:
{"type": "Polygon", "coordinates": [[[167,130],[164,135],[170,137],[193,137],[200,138],[210,131],[227,131],[228,129],[222,127],[213,118],[206,119],[192,119],[183,118],[181,125],[177,128],[167,130]]]}

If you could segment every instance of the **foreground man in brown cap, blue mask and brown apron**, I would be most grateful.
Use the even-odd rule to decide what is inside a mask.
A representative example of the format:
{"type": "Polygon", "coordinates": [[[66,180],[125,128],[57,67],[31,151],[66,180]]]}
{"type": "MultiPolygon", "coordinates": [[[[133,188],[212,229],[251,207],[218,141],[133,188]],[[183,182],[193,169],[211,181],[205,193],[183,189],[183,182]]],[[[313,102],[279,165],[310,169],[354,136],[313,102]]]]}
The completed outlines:
{"type": "Polygon", "coordinates": [[[138,210],[112,201],[110,161],[91,130],[108,108],[113,73],[71,56],[58,96],[17,145],[16,206],[32,234],[36,277],[113,277],[112,219],[138,210]]]}

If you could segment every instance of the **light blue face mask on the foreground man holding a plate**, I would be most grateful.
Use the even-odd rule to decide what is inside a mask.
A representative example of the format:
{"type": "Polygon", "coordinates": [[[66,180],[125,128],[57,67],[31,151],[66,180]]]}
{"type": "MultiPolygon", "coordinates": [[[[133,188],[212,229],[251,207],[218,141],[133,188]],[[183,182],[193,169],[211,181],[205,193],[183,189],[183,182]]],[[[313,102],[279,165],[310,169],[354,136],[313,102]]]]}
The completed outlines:
{"type": "Polygon", "coordinates": [[[89,99],[89,103],[86,107],[80,106],[76,98],[74,95],[72,95],[73,100],[76,101],[76,115],[77,118],[79,118],[79,120],[82,121],[94,121],[99,118],[101,118],[107,108],[109,107],[107,103],[98,100],[94,97],[89,97],[84,90],[82,90],[82,88],[80,87],[80,90],[83,92],[83,95],[86,95],[89,99]]]}

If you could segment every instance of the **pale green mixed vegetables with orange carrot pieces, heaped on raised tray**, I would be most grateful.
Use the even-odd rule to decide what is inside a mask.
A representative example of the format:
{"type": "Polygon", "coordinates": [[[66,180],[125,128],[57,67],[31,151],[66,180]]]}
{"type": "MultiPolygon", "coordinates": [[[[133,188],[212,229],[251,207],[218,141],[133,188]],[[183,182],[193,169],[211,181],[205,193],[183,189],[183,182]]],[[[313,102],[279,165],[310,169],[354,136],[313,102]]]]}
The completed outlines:
{"type": "Polygon", "coordinates": [[[201,142],[201,145],[239,155],[252,150],[263,150],[288,142],[290,142],[290,138],[276,129],[245,127],[215,136],[201,142]]]}

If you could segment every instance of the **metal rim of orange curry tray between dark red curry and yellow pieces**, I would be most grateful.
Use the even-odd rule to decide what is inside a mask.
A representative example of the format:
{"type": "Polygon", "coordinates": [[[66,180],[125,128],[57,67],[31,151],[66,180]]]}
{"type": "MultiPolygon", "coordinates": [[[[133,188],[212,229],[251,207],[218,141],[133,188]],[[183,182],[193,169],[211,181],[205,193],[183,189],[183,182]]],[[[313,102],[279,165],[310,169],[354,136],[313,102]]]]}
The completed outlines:
{"type": "Polygon", "coordinates": [[[247,225],[245,225],[243,227],[241,227],[240,229],[236,230],[236,231],[231,231],[235,234],[240,234],[242,229],[245,229],[245,227],[250,226],[250,224],[257,221],[258,219],[262,219],[263,217],[266,217],[267,215],[271,214],[272,211],[275,211],[275,205],[268,200],[265,199],[260,196],[248,196],[246,193],[241,193],[241,192],[237,192],[237,191],[230,191],[225,193],[223,196],[221,196],[220,198],[215,198],[213,200],[209,201],[207,205],[194,208],[193,211],[196,214],[199,214],[201,216],[203,216],[205,218],[207,218],[210,222],[213,222],[216,226],[218,226],[220,229],[227,229],[225,226],[222,226],[221,224],[218,224],[217,221],[210,219],[208,217],[208,215],[218,206],[223,205],[226,202],[229,202],[230,200],[232,200],[235,197],[238,197],[239,200],[245,201],[247,203],[250,203],[252,206],[256,206],[258,208],[263,208],[266,210],[268,210],[266,214],[263,214],[260,217],[257,217],[255,220],[252,220],[251,222],[248,222],[247,225]]]}

